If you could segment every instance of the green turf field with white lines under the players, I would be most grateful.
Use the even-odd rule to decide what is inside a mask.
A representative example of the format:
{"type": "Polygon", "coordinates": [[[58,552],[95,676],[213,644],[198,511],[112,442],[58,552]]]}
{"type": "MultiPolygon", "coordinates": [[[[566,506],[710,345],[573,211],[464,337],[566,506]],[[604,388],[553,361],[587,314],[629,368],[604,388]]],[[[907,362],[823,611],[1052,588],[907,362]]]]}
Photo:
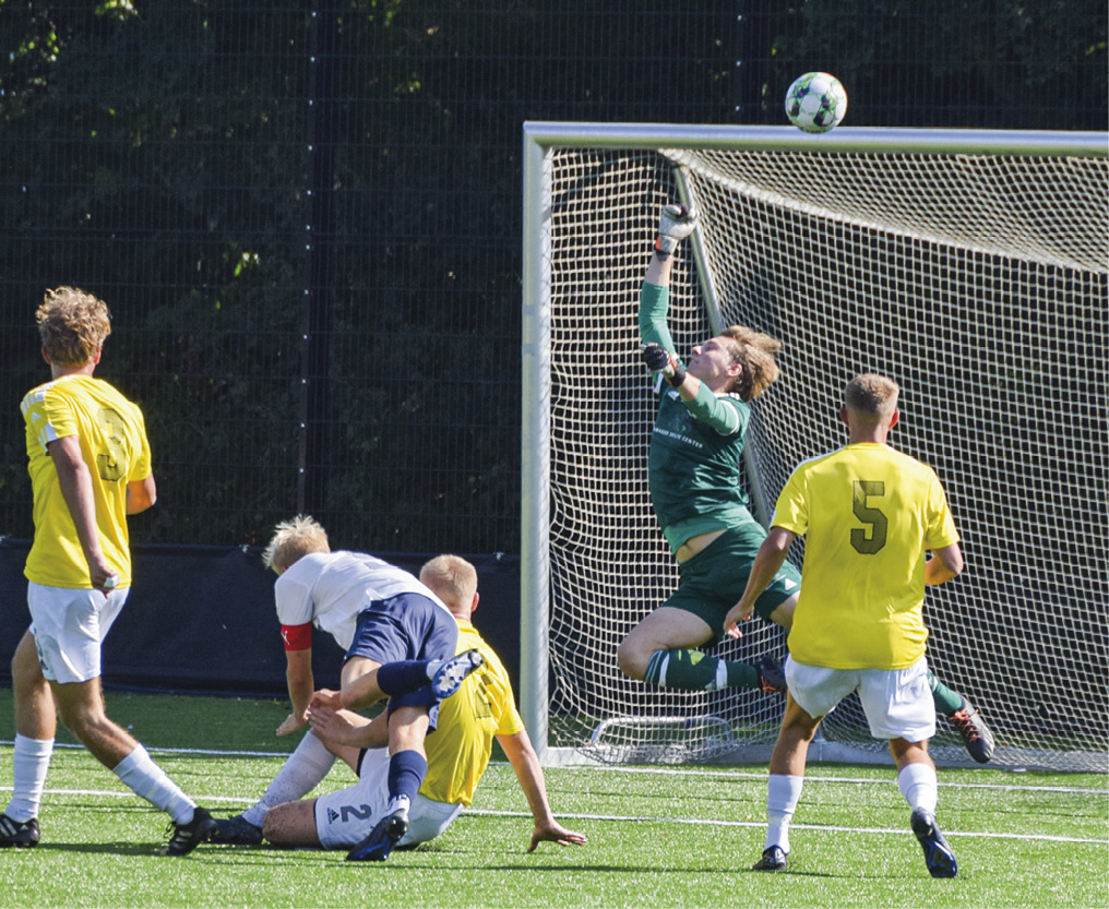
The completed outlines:
{"type": "MultiPolygon", "coordinates": [[[[0,738],[10,743],[8,694],[0,738]]],[[[116,694],[109,713],[217,816],[253,801],[281,765],[277,753],[296,744],[274,738],[286,713],[275,702],[116,694]]],[[[0,756],[6,803],[10,744],[0,756]]],[[[0,852],[0,893],[12,907],[1109,907],[1103,776],[942,769],[939,819],[959,876],[934,880],[892,766],[811,767],[790,870],[751,871],[765,774],[549,769],[557,814],[589,844],[528,855],[527,805],[511,768],[495,763],[442,837],[381,865],[226,846],[175,859],[156,855],[164,815],[83,749],[59,748],[42,845],[0,852]]],[[[337,767],[324,785],[352,780],[337,767]]]]}

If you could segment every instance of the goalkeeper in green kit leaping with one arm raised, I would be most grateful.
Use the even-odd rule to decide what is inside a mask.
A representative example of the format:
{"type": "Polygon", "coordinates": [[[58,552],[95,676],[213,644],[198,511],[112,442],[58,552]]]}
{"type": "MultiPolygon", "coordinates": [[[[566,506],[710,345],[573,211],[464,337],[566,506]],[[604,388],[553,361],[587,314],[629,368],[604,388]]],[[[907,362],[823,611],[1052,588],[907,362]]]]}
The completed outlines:
{"type": "MultiPolygon", "coordinates": [[[[695,345],[688,365],[678,358],[667,325],[670,276],[674,251],[695,225],[696,213],[685,206],[663,207],[639,309],[643,360],[655,374],[659,396],[648,461],[651,502],[679,562],[680,582],[629,632],[617,658],[624,674],[651,685],[783,692],[781,665],[770,655],[752,665],[701,650],[723,636],[723,616],[743,594],[766,537],[747,508],[741,460],[751,401],[777,379],[782,345],[734,325],[695,345]]],[[[755,612],[788,630],[800,585],[800,573],[785,562],[755,612]]],[[[989,760],[993,735],[978,712],[928,677],[937,711],[956,725],[975,760],[989,760]]]]}

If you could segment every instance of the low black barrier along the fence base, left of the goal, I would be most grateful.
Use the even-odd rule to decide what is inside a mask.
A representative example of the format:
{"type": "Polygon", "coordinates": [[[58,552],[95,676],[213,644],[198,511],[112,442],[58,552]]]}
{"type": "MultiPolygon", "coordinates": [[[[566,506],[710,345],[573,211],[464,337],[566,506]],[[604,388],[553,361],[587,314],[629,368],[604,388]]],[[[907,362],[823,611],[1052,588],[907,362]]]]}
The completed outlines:
{"type": "MultiPolygon", "coordinates": [[[[27,631],[26,540],[0,541],[0,683],[27,631]]],[[[414,574],[427,556],[385,553],[414,574]]],[[[520,664],[520,568],[512,555],[468,555],[481,600],[474,624],[512,678],[520,664]]],[[[247,547],[139,545],[126,606],[104,644],[108,687],[285,697],[285,652],[274,609],[273,572],[247,547]]],[[[343,651],[326,633],[313,637],[317,687],[338,687],[343,651]]]]}

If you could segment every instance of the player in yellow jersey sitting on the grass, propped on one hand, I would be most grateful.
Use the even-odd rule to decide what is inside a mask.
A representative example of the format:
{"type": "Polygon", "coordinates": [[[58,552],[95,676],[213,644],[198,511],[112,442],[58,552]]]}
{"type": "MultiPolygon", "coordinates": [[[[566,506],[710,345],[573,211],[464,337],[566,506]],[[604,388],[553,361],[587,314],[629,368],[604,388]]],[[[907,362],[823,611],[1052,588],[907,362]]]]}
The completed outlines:
{"type": "MultiPolygon", "coordinates": [[[[425,741],[428,772],[409,809],[408,831],[396,848],[410,848],[439,836],[474,800],[496,738],[516,772],[531,808],[535,826],[528,851],[540,842],[562,846],[586,842],[581,834],[560,825],[547,798],[542,768],[512,698],[503,665],[471,623],[478,604],[477,571],[458,555],[438,555],[420,571],[420,581],[436,592],[459,625],[459,650],[477,647],[485,663],[439,708],[438,728],[425,741]]],[[[313,707],[313,734],[359,775],[354,786],[317,799],[271,808],[263,830],[279,846],[349,848],[359,860],[360,844],[386,808],[388,755],[380,716],[369,722],[347,711],[313,707]]]]}

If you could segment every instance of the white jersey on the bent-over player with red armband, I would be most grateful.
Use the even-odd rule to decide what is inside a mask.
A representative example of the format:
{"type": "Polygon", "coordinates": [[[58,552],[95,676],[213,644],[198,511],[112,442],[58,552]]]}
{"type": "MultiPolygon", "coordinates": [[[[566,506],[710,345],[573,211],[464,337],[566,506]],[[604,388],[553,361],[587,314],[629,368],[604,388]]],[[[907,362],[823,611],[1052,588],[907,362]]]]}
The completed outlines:
{"type": "Polygon", "coordinates": [[[419,593],[448,614],[446,604],[409,572],[363,552],[313,552],[277,579],[277,621],[312,622],[344,650],[350,648],[358,613],[376,600],[419,593]]]}

